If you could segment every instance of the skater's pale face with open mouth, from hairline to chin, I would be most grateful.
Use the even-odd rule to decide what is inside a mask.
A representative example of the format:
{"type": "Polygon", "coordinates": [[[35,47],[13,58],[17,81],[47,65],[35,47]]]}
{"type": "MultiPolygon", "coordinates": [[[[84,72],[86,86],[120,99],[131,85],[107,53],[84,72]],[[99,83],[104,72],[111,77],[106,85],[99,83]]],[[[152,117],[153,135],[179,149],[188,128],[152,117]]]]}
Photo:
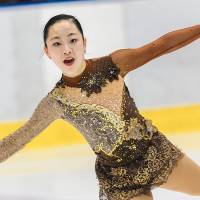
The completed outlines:
{"type": "Polygon", "coordinates": [[[71,20],[61,20],[49,27],[46,55],[69,77],[81,74],[86,66],[86,39],[71,20]]]}

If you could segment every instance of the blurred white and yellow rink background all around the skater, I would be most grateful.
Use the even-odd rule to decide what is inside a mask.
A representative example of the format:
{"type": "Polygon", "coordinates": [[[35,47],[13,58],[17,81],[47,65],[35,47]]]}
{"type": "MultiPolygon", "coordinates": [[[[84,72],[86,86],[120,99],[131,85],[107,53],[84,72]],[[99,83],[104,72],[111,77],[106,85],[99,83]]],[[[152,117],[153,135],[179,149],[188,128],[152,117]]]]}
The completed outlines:
{"type": "MultiPolygon", "coordinates": [[[[87,38],[86,58],[137,48],[200,22],[197,0],[1,0],[0,138],[31,116],[60,79],[43,52],[43,28],[54,15],[76,16],[87,38]]],[[[126,85],[141,113],[200,163],[200,41],[129,72],[126,85]]],[[[57,120],[0,164],[0,199],[97,200],[95,155],[81,134],[57,120]]],[[[163,189],[154,199],[191,200],[163,189]]]]}

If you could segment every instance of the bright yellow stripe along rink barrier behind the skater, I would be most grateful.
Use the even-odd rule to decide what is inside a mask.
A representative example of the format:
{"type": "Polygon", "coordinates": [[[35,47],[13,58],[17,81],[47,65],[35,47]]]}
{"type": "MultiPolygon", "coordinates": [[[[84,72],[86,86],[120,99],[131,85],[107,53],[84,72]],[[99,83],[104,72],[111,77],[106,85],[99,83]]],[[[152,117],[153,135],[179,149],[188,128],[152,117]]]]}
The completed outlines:
{"type": "MultiPolygon", "coordinates": [[[[140,109],[140,113],[145,118],[151,119],[165,135],[200,133],[200,104],[140,109]]],[[[0,139],[12,134],[25,122],[26,120],[0,122],[0,139]]],[[[86,140],[75,127],[58,119],[38,134],[25,148],[37,149],[84,143],[86,140]]]]}

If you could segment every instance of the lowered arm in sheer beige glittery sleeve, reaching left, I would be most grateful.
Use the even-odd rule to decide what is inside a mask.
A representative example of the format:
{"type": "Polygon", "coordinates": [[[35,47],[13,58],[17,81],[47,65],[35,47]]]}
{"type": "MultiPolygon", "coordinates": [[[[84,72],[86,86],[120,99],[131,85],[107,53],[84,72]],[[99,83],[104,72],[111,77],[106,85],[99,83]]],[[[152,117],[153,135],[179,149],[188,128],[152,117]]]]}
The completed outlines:
{"type": "Polygon", "coordinates": [[[43,97],[30,119],[14,133],[0,141],[0,162],[20,150],[51,122],[60,118],[59,109],[58,102],[49,94],[43,97]]]}

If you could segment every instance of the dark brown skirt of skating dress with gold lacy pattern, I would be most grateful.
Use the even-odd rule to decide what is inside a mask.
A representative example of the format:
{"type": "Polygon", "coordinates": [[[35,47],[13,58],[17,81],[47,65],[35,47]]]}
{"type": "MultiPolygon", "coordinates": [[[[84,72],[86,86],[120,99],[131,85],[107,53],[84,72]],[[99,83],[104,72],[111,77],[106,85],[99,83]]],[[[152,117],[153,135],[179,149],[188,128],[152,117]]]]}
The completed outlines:
{"type": "Polygon", "coordinates": [[[95,171],[99,181],[100,200],[130,200],[165,183],[183,151],[157,131],[153,133],[146,154],[140,160],[113,167],[102,163],[98,156],[95,171]]]}

